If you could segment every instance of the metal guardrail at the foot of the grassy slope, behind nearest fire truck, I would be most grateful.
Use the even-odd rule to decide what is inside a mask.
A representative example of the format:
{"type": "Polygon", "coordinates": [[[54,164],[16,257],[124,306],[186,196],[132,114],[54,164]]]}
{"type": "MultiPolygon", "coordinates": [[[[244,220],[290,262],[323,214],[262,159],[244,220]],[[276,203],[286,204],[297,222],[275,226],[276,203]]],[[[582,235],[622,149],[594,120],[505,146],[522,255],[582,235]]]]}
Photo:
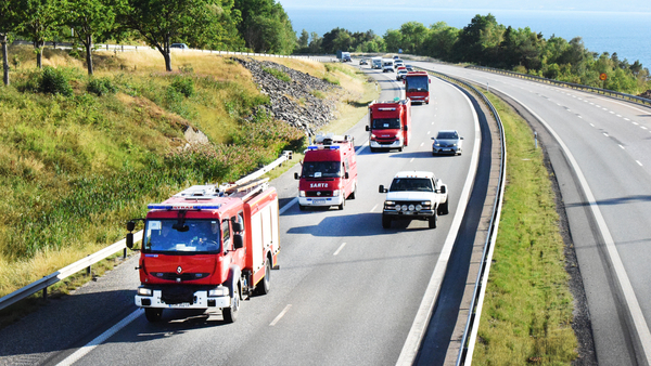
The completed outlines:
{"type": "MultiPolygon", "coordinates": [[[[292,152],[285,151],[282,153],[282,155],[273,160],[272,162],[270,162],[269,165],[258,169],[257,171],[255,171],[252,175],[256,175],[255,178],[261,177],[265,173],[271,171],[272,169],[281,166],[284,161],[289,160],[292,158],[292,152]]],[[[247,178],[251,178],[252,175],[247,175],[247,178]]],[[[142,231],[133,234],[133,241],[139,241],[142,240],[142,231]]],[[[88,272],[90,272],[90,266],[101,260],[104,260],[113,254],[115,254],[118,251],[125,251],[125,257],[126,257],[126,239],[122,239],[104,249],[101,249],[100,251],[92,253],[66,267],[63,267],[48,276],[42,277],[39,280],[36,280],[23,288],[20,288],[2,298],[0,298],[0,310],[7,308],[7,306],[11,306],[13,304],[15,304],[16,302],[24,300],[28,297],[30,297],[34,293],[37,293],[39,291],[43,291],[43,298],[47,298],[48,295],[48,287],[65,279],[66,277],[69,277],[72,275],[74,275],[75,273],[82,271],[82,270],[87,270],[88,272]]]]}

